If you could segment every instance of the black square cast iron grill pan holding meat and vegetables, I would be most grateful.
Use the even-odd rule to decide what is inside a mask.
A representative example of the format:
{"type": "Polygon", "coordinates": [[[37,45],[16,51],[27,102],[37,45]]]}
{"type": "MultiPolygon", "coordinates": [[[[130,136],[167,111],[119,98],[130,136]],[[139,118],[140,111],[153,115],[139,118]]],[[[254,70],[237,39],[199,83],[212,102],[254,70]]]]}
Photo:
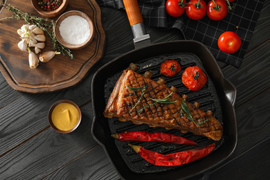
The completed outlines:
{"type": "MultiPolygon", "coordinates": [[[[135,37],[135,35],[134,35],[135,37]]],[[[136,47],[133,51],[102,66],[92,80],[93,125],[92,135],[109,156],[111,163],[123,179],[183,179],[206,172],[215,165],[222,163],[231,155],[237,144],[237,127],[235,118],[236,89],[224,78],[215,58],[208,48],[195,41],[174,41],[150,44],[142,48],[136,47]],[[173,59],[181,64],[181,72],[172,78],[167,78],[159,73],[159,67],[164,60],[173,59]],[[199,102],[200,109],[213,111],[213,116],[222,123],[224,132],[220,141],[209,140],[203,136],[191,133],[181,134],[177,129],[167,130],[162,127],[149,127],[148,125],[134,125],[132,122],[120,122],[117,118],[105,118],[102,112],[107,100],[124,69],[130,63],[137,64],[140,68],[137,73],[151,70],[154,74],[152,80],[163,78],[168,87],[177,87],[179,94],[186,94],[188,102],[199,102]],[[181,74],[188,66],[199,66],[208,76],[206,86],[199,91],[188,90],[181,82],[181,74]],[[175,145],[170,143],[118,141],[111,134],[120,132],[147,131],[165,132],[190,138],[198,145],[175,145]],[[174,167],[155,166],[147,163],[136,154],[127,144],[141,145],[147,150],[161,154],[171,154],[183,150],[203,147],[216,143],[215,150],[208,156],[193,161],[186,165],[174,167]]]]}

